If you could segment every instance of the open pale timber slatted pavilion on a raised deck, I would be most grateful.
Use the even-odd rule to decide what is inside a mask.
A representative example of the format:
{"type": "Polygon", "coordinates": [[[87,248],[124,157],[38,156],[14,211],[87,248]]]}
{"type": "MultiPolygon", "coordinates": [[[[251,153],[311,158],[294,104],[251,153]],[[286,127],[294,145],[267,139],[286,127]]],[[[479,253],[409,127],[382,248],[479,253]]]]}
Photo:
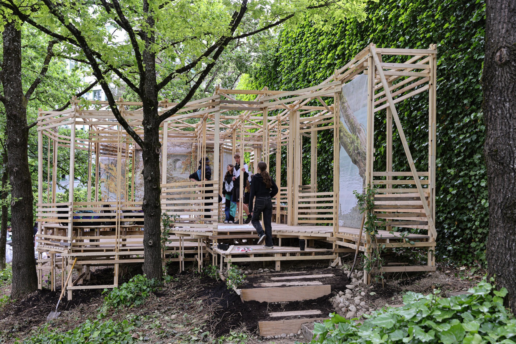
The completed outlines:
{"type": "MultiPolygon", "coordinates": [[[[317,86],[294,91],[217,88],[212,96],[187,103],[162,124],[162,209],[177,217],[163,251],[164,261],[179,261],[180,269],[184,269],[184,261],[193,260],[201,268],[209,254],[212,263],[220,262],[221,266],[224,259],[228,266],[229,260],[232,263],[273,261],[279,270],[281,261],[288,260],[326,259],[336,264],[338,253],[352,252],[357,244],[365,255],[381,244],[387,250],[401,247],[423,249],[428,255],[425,265],[392,264],[381,267],[383,272],[433,271],[436,244],[436,55],[436,45],[428,49],[392,49],[370,44],[317,86]],[[340,166],[339,134],[342,129],[335,129],[342,127],[342,90],[359,76],[367,78],[364,185],[377,186],[374,212],[380,219],[379,225],[385,226],[376,238],[371,238],[366,232],[359,238],[359,228],[339,225],[338,168],[333,169],[332,191],[321,192],[317,186],[317,137],[322,130],[330,130],[330,135],[333,135],[333,166],[340,166]],[[417,171],[396,104],[421,94],[428,96],[428,108],[421,109],[428,112],[428,151],[417,158],[428,161],[428,168],[417,171]],[[374,127],[378,117],[385,120],[384,128],[374,127]],[[393,143],[393,128],[397,130],[400,144],[393,143]],[[375,133],[378,135],[380,132],[386,137],[386,166],[375,163],[375,133]],[[303,142],[305,145],[310,142],[309,170],[303,169],[303,142]],[[204,171],[205,157],[209,156],[214,171],[212,180],[190,182],[184,177],[170,178],[167,169],[170,147],[174,144],[183,144],[190,149],[191,166],[187,173],[197,170],[198,160],[203,161],[201,171],[204,171]],[[406,157],[408,171],[393,171],[395,148],[398,155],[406,157]],[[282,151],[286,153],[286,161],[282,158],[282,151]],[[286,186],[280,187],[273,200],[276,220],[273,236],[278,242],[274,250],[264,250],[252,244],[256,232],[251,225],[241,224],[243,214],[239,214],[240,225],[221,223],[223,204],[217,203],[216,195],[222,190],[224,161],[228,161],[228,157],[231,159],[236,152],[244,157],[251,173],[256,171],[257,162],[265,161],[269,165],[271,157],[274,157],[278,186],[280,181],[286,181],[283,183],[286,186]],[[282,165],[286,166],[283,173],[282,165]],[[310,183],[303,185],[302,181],[307,179],[310,183]],[[393,231],[393,228],[398,229],[393,231]],[[282,239],[283,243],[285,239],[305,239],[307,249],[300,251],[299,247],[285,246],[282,239]],[[217,244],[220,242],[228,242],[229,249],[219,249],[217,244]],[[239,245],[250,251],[235,250],[239,245]]],[[[120,99],[117,105],[122,116],[142,135],[141,103],[120,99]]],[[[174,105],[167,100],[160,102],[159,113],[174,105]]],[[[55,289],[56,270],[62,269],[65,276],[75,257],[78,258],[75,265],[78,277],[70,279],[66,286],[69,298],[74,289],[117,286],[124,265],[144,260],[142,203],[138,201],[139,148],[118,124],[106,101],[95,101],[85,106],[73,99],[68,110],[40,110],[38,135],[39,232],[36,241],[40,252],[37,260],[39,287],[42,287],[42,271],[50,269],[53,276],[51,287],[55,289]],[[84,131],[87,137],[77,136],[79,126],[87,127],[84,131]],[[69,152],[68,161],[59,161],[69,164],[70,169],[66,202],[56,200],[59,148],[69,152]],[[44,151],[47,161],[43,161],[44,151]],[[74,201],[77,152],[86,154],[89,161],[87,202],[74,201]],[[109,160],[109,178],[100,178],[101,159],[109,160]],[[111,188],[109,197],[103,191],[106,185],[111,188]],[[50,257],[43,259],[43,252],[50,257]],[[89,278],[91,269],[99,266],[114,266],[113,283],[82,285],[83,280],[89,278]]],[[[304,166],[307,165],[305,162],[304,166]]],[[[240,190],[244,189],[243,179],[240,178],[240,190]]],[[[368,283],[370,275],[365,273],[364,276],[364,282],[368,283]]]]}

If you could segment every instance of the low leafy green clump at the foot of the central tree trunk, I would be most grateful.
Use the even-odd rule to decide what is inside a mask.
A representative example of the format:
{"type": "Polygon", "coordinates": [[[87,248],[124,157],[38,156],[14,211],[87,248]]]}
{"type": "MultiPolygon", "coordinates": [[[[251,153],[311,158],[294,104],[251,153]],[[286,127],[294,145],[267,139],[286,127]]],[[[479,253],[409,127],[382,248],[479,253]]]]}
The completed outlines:
{"type": "Polygon", "coordinates": [[[104,289],[103,309],[134,307],[142,304],[150,294],[162,284],[154,279],[148,280],[144,275],[136,275],[129,282],[111,290],[104,289]]]}

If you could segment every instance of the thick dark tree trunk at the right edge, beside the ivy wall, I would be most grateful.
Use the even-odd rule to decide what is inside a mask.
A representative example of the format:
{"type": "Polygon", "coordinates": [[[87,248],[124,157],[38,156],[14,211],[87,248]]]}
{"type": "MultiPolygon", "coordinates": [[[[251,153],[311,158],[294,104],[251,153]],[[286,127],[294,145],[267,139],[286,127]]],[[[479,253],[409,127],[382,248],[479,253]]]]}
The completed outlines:
{"type": "Polygon", "coordinates": [[[482,72],[489,185],[488,273],[516,309],[516,1],[488,0],[482,72]]]}

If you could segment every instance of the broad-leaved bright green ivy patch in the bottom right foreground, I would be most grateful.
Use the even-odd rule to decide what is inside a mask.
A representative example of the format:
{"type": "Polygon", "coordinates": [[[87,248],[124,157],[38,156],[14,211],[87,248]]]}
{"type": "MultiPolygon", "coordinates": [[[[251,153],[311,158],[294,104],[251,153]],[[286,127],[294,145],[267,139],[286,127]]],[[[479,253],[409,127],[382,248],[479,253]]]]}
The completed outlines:
{"type": "Polygon", "coordinates": [[[438,298],[438,290],[426,296],[408,292],[405,306],[377,310],[362,325],[333,313],[315,324],[319,337],[311,343],[513,344],[516,319],[504,307],[507,290],[496,291],[484,279],[469,291],[449,299],[438,298]]]}

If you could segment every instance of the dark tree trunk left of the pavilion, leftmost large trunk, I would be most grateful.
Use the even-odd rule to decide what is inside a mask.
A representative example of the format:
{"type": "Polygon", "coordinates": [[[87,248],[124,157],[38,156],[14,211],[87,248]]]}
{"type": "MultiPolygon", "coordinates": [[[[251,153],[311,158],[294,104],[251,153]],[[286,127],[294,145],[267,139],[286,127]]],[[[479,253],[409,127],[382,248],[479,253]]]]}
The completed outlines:
{"type": "Polygon", "coordinates": [[[14,22],[4,27],[4,86],[7,113],[7,155],[11,182],[12,289],[11,298],[23,299],[38,287],[34,260],[32,181],[27,157],[28,127],[22,89],[21,32],[14,22]]]}

